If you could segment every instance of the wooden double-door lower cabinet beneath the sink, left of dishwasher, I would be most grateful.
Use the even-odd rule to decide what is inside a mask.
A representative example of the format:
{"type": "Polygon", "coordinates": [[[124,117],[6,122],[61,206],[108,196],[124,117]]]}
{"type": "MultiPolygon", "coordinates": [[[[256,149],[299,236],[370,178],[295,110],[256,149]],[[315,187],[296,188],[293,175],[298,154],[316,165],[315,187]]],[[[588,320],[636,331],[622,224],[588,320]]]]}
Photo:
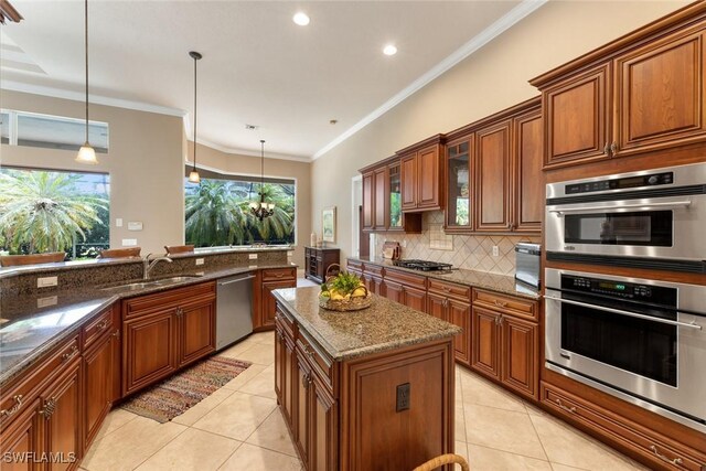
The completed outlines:
{"type": "Polygon", "coordinates": [[[122,301],[122,396],[215,351],[215,283],[122,301]]]}

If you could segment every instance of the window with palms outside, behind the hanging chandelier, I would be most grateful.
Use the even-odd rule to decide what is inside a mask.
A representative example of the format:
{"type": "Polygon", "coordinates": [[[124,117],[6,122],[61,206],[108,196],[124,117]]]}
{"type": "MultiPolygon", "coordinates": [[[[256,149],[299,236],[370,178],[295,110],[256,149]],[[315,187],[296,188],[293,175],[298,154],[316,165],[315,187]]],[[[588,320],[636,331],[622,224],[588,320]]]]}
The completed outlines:
{"type": "MultiPolygon", "coordinates": [[[[191,170],[191,168],[189,168],[191,170]]],[[[196,247],[295,244],[293,180],[265,180],[272,216],[258,221],[249,204],[259,201],[259,179],[200,170],[201,184],[185,182],[185,240],[196,247]]]]}

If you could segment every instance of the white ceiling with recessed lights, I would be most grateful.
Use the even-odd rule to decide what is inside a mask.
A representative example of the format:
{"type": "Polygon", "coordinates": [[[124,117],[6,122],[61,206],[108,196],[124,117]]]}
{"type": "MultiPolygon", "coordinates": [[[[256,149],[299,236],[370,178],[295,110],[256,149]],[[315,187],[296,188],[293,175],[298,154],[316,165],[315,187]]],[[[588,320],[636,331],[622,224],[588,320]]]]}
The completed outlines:
{"type": "MultiPolygon", "coordinates": [[[[0,86],[81,99],[83,1],[12,3],[0,86]]],[[[92,99],[190,113],[199,51],[200,142],[309,160],[542,3],[90,0],[92,99]]]]}

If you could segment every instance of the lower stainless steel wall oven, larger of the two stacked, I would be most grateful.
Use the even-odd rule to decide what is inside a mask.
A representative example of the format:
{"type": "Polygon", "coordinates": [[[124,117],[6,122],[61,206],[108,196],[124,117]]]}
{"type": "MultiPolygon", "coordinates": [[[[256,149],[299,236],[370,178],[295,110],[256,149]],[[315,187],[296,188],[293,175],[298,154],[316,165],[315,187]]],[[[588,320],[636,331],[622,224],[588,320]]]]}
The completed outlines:
{"type": "Polygon", "coordinates": [[[545,270],[546,366],[706,431],[706,287],[545,270]]]}

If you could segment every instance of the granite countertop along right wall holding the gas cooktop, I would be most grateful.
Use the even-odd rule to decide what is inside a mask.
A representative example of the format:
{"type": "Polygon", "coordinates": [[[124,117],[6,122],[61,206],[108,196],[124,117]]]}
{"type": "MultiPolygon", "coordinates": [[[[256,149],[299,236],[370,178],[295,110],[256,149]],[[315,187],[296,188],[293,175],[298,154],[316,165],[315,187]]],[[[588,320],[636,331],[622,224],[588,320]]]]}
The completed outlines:
{"type": "Polygon", "coordinates": [[[420,271],[410,268],[397,267],[393,265],[392,260],[379,257],[349,257],[349,259],[362,261],[364,264],[379,265],[385,268],[408,271],[410,274],[466,285],[473,288],[483,288],[523,298],[539,299],[539,290],[532,286],[518,282],[515,280],[515,277],[512,276],[490,274],[488,271],[467,270],[463,268],[453,269],[451,271],[420,271]]]}

